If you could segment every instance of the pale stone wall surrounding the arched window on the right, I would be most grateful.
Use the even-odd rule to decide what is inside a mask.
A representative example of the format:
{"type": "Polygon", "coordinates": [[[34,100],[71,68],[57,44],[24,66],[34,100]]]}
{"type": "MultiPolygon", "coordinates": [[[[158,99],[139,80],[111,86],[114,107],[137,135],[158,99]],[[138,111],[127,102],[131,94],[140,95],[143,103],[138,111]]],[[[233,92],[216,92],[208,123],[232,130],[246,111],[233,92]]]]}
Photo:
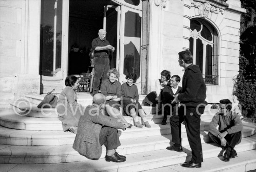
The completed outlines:
{"type": "Polygon", "coordinates": [[[239,71],[240,15],[246,12],[240,7],[240,1],[228,0],[226,2],[228,5],[220,1],[216,3],[218,0],[169,0],[167,2],[161,24],[160,72],[167,69],[172,75],[178,74],[182,77],[184,70],[178,66],[178,52],[189,49],[189,19],[207,20],[218,32],[220,55],[218,59],[219,85],[207,86],[207,101],[214,103],[220,99],[232,99],[232,79],[239,71]],[[200,9],[193,6],[191,2],[209,3],[211,7],[214,7],[215,12],[202,16],[200,9]]]}

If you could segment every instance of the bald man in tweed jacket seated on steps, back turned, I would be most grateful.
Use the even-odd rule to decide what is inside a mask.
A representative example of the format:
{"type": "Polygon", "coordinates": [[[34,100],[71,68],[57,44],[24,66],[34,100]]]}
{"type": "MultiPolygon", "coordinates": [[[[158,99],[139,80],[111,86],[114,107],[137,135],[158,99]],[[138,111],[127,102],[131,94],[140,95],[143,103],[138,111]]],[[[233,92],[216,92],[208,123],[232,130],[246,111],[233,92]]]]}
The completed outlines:
{"type": "Polygon", "coordinates": [[[78,122],[77,134],[73,148],[88,159],[97,160],[101,157],[102,145],[106,146],[106,161],[124,162],[126,157],[115,150],[121,145],[117,129],[126,129],[121,119],[104,116],[106,97],[97,93],[93,97],[93,104],[86,107],[85,113],[78,122]]]}

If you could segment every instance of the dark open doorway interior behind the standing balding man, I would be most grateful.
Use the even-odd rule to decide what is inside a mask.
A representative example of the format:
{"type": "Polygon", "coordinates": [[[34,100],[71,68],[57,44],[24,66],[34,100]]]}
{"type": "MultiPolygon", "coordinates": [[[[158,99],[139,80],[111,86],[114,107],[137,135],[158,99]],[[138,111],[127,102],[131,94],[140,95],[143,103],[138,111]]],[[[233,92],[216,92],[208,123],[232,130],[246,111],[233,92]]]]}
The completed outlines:
{"type": "MultiPolygon", "coordinates": [[[[91,42],[103,28],[104,6],[117,5],[111,0],[70,0],[68,27],[68,75],[86,73],[91,65],[91,42]]],[[[106,39],[116,47],[117,15],[109,10],[106,39]]],[[[110,55],[110,68],[116,67],[116,51],[110,55]]]]}

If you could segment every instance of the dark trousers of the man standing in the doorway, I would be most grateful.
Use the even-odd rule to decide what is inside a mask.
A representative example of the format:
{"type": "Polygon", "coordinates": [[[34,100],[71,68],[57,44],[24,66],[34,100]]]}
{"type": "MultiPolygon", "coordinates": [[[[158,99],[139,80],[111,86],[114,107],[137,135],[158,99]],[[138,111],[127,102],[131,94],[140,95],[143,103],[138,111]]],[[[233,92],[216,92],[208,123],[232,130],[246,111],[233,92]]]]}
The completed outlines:
{"type": "Polygon", "coordinates": [[[94,84],[93,94],[98,93],[99,85],[102,80],[107,79],[107,73],[109,70],[109,59],[108,57],[95,57],[94,58],[94,84]]]}

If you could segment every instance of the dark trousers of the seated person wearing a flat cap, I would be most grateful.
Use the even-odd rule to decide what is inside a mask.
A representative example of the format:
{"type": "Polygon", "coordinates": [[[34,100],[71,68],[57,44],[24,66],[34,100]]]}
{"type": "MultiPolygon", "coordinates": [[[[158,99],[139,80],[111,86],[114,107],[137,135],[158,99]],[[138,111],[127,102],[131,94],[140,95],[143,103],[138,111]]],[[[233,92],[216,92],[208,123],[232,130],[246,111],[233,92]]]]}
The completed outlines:
{"type": "MultiPolygon", "coordinates": [[[[208,136],[210,140],[221,146],[221,140],[218,139],[216,136],[214,136],[212,133],[208,132],[208,136]]],[[[221,146],[222,148],[228,148],[231,147],[234,149],[234,147],[241,142],[242,139],[242,133],[241,132],[235,132],[232,134],[227,134],[224,137],[227,140],[226,146],[221,146]]]]}

